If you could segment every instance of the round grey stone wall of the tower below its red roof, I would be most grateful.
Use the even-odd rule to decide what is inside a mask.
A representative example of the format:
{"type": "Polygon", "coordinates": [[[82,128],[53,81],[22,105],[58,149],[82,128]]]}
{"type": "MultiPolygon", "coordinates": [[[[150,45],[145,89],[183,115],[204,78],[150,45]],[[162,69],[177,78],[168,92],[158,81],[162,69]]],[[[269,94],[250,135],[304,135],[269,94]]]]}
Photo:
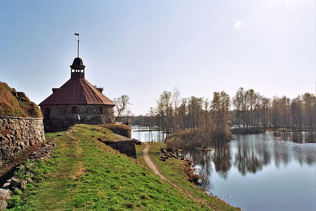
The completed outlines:
{"type": "Polygon", "coordinates": [[[40,109],[44,115],[45,131],[67,129],[78,123],[77,114],[71,113],[71,107],[77,107],[77,114],[80,115],[82,124],[111,124],[114,122],[114,109],[111,105],[96,104],[70,104],[70,105],[44,105],[40,109]],[[100,114],[99,107],[103,107],[103,114],[100,114]],[[50,116],[46,115],[46,108],[50,109],[50,116]]]}

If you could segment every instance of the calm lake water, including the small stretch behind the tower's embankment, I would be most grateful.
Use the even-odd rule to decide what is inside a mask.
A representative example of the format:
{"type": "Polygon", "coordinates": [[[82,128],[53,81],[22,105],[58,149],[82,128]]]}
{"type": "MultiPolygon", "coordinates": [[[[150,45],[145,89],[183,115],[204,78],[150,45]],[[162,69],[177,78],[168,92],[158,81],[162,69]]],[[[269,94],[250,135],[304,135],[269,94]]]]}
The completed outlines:
{"type": "MultiPolygon", "coordinates": [[[[132,131],[163,142],[165,135],[132,131]]],[[[243,210],[315,210],[314,132],[262,133],[212,143],[210,152],[183,151],[212,184],[214,195],[243,210]]]]}

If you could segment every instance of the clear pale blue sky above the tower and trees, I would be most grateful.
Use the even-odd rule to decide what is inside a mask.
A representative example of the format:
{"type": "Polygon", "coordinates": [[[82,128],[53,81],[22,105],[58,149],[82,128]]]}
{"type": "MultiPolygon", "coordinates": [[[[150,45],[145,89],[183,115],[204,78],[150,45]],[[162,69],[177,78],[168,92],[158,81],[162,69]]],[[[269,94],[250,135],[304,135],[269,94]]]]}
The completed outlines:
{"type": "Polygon", "coordinates": [[[315,93],[315,0],[1,1],[0,81],[40,103],[85,78],[133,114],[177,86],[182,97],[233,96],[242,86],[272,97],[315,93]]]}

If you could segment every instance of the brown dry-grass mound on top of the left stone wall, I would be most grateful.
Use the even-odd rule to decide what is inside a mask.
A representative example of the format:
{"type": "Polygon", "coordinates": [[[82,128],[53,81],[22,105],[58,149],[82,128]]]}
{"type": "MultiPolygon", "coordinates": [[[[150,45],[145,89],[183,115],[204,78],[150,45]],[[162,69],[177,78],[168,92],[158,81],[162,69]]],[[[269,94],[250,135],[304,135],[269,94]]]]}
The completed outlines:
{"type": "Polygon", "coordinates": [[[26,101],[19,102],[14,89],[0,81],[0,116],[42,118],[39,107],[24,94],[26,101]]]}

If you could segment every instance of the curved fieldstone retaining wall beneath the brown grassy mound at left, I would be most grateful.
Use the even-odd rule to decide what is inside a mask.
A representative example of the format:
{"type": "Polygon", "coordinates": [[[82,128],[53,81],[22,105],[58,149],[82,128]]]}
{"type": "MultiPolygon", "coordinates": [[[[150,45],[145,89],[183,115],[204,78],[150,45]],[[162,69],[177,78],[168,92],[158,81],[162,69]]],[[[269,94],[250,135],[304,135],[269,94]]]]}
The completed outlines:
{"type": "Polygon", "coordinates": [[[0,116],[0,164],[27,146],[44,141],[43,119],[0,116]]]}

